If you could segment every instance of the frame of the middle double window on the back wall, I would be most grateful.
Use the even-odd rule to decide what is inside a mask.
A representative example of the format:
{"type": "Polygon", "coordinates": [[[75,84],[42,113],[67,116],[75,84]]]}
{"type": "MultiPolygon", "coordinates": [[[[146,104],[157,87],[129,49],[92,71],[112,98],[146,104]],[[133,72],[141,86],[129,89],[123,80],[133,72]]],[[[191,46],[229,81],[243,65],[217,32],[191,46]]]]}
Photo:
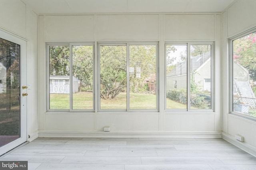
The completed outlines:
{"type": "Polygon", "coordinates": [[[97,111],[98,112],[159,112],[159,43],[158,42],[98,42],[97,45],[98,62],[97,62],[97,111]],[[101,45],[126,45],[126,109],[100,109],[100,46],[101,45]],[[156,45],[156,109],[129,109],[130,107],[130,62],[129,62],[129,45],[156,45]]]}

